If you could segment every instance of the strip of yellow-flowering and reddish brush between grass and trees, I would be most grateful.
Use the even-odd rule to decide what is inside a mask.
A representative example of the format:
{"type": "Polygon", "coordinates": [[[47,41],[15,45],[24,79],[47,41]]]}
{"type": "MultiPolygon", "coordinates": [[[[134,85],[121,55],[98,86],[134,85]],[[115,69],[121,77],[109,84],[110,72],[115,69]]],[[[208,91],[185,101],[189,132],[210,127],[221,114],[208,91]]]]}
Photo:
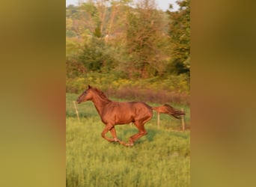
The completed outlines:
{"type": "Polygon", "coordinates": [[[86,73],[84,77],[68,78],[66,91],[82,93],[88,85],[118,99],[189,104],[189,82],[183,75],[132,80],[118,79],[115,73],[86,73]]]}

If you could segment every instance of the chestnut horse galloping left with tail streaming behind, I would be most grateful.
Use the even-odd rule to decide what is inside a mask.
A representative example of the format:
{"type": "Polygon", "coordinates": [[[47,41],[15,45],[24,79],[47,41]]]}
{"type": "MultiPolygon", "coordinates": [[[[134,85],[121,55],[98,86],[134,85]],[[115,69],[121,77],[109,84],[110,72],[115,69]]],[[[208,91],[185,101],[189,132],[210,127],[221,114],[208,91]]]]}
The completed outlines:
{"type": "Polygon", "coordinates": [[[169,114],[176,118],[180,118],[181,115],[185,114],[183,111],[174,109],[167,104],[159,107],[151,107],[144,102],[115,102],[108,99],[102,91],[97,88],[92,88],[90,85],[88,85],[88,89],[79,96],[76,102],[81,103],[88,100],[94,102],[94,106],[100,114],[102,122],[106,125],[101,133],[102,137],[107,141],[119,142],[125,146],[133,146],[134,141],[147,135],[146,129],[144,129],[144,124],[152,118],[152,110],[163,114],[169,114]],[[118,140],[115,125],[131,122],[138,128],[138,133],[129,138],[129,143],[118,140]],[[109,131],[113,138],[108,138],[106,136],[106,133],[109,131]]]}

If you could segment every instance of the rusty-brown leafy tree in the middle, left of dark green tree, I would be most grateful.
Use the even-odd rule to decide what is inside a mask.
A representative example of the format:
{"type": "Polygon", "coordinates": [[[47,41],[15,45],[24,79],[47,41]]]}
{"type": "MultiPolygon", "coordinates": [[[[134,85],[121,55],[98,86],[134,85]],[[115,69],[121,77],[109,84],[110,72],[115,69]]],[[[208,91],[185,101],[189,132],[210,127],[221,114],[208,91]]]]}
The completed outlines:
{"type": "Polygon", "coordinates": [[[138,1],[127,16],[127,53],[130,70],[140,78],[157,76],[163,63],[164,20],[153,0],[138,1]]]}

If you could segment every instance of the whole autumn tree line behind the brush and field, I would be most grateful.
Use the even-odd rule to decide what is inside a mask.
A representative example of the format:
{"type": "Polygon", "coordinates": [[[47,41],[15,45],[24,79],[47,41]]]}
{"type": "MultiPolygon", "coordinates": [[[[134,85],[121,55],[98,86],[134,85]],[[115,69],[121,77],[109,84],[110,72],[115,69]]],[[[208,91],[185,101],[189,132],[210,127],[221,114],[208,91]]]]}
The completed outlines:
{"type": "Polygon", "coordinates": [[[142,80],[190,77],[190,0],[88,0],[66,7],[67,79],[88,73],[142,80]]]}

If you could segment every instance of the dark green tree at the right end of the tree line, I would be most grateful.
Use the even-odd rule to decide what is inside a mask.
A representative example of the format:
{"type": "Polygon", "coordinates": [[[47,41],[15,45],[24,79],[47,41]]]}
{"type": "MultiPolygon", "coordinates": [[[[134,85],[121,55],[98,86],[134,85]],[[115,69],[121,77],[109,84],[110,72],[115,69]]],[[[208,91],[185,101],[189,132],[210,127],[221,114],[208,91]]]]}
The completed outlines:
{"type": "MultiPolygon", "coordinates": [[[[168,11],[171,19],[169,35],[171,38],[172,73],[190,73],[190,0],[177,1],[180,8],[168,11]]],[[[172,5],[170,5],[170,8],[172,5]]]]}

